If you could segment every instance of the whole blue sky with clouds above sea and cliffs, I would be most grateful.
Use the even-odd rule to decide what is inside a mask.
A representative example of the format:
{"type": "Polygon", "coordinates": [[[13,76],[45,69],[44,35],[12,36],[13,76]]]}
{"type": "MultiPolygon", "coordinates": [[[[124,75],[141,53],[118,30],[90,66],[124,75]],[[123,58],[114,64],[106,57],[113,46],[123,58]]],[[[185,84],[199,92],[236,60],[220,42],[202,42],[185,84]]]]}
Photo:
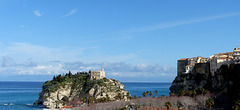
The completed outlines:
{"type": "Polygon", "coordinates": [[[171,82],[177,59],[240,46],[240,1],[0,0],[0,81],[98,70],[171,82]]]}

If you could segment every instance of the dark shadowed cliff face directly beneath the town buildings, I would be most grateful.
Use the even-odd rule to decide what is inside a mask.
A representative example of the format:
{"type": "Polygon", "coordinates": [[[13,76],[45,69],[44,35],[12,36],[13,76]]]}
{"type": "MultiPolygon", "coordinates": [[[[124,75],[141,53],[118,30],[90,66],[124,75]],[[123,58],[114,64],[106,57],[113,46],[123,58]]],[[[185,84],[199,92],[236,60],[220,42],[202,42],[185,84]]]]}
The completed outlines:
{"type": "Polygon", "coordinates": [[[208,89],[212,93],[226,93],[232,98],[238,98],[240,93],[240,64],[222,65],[214,74],[209,70],[199,71],[199,64],[188,74],[178,75],[172,82],[170,91],[208,89]]]}

